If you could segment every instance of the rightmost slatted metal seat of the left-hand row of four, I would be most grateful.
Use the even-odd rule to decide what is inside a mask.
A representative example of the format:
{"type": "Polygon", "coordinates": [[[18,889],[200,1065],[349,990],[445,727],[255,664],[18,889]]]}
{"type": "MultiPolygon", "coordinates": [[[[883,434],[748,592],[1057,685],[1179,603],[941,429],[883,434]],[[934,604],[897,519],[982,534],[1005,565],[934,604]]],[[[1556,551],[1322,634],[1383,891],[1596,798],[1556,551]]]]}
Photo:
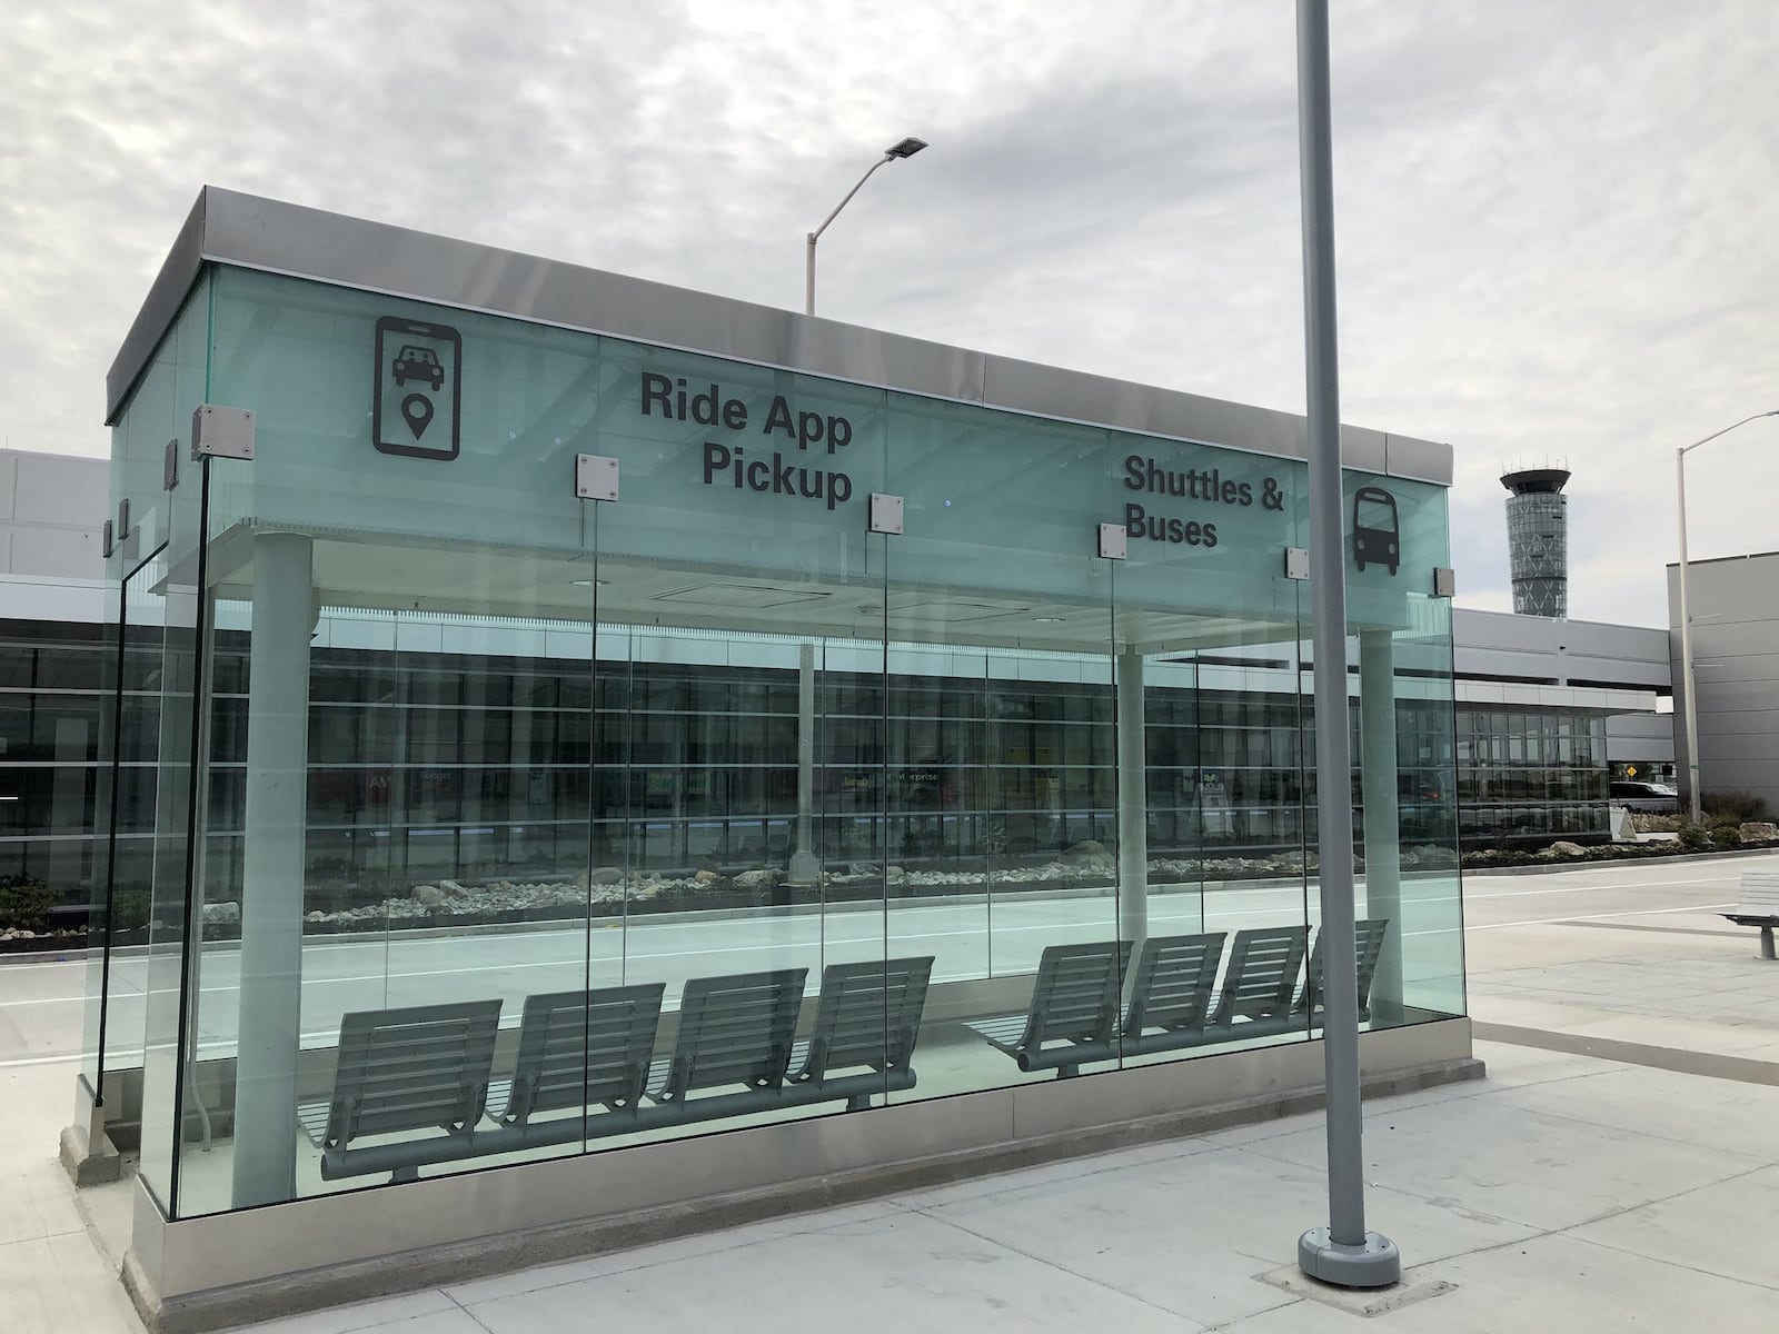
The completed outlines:
{"type": "Polygon", "coordinates": [[[914,1087],[914,1042],[927,1009],[932,955],[829,964],[809,1037],[790,1049],[786,1087],[870,1106],[873,1092],[914,1087]],[[863,1069],[861,1069],[863,1067],[863,1069]],[[845,1074],[843,1071],[854,1071],[845,1074]]]}

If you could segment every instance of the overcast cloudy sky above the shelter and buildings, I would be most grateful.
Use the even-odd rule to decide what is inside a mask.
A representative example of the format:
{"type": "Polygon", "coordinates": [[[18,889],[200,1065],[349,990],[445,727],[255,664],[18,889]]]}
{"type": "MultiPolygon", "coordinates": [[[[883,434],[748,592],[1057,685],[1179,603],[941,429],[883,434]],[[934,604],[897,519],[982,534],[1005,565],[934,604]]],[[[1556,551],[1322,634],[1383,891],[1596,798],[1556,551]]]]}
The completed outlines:
{"type": "MultiPolygon", "coordinates": [[[[105,454],[103,375],[210,181],[1302,411],[1293,7],[20,0],[0,436],[105,454]]],[[[1336,0],[1341,407],[1560,461],[1571,614],[1665,624],[1674,446],[1779,409],[1779,5],[1336,0]]],[[[1692,555],[1779,548],[1779,418],[1690,455],[1692,555]]]]}

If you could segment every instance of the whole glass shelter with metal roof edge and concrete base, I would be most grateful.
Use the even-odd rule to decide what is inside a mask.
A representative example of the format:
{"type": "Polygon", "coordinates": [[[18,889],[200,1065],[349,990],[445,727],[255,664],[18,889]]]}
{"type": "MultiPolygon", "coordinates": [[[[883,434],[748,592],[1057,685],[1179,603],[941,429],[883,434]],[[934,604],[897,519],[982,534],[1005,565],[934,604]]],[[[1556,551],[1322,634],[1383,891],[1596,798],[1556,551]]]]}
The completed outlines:
{"type": "Polygon", "coordinates": [[[1348,432],[1331,722],[1292,416],[221,190],[110,391],[82,1089],[171,1323],[1311,1085],[1318,800],[1368,1069],[1469,1057],[1445,446],[1348,432]]]}

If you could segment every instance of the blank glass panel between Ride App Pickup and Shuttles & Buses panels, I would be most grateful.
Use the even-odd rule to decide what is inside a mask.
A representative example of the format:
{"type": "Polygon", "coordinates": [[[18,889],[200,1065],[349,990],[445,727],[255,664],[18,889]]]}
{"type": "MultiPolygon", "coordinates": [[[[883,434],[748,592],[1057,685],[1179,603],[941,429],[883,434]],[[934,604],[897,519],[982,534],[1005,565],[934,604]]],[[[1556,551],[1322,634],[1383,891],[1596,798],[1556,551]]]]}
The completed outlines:
{"type": "Polygon", "coordinates": [[[1117,1058],[1115,1021],[1021,1046],[1046,950],[1098,948],[1066,968],[1101,968],[1117,1009],[1112,587],[1082,521],[1114,512],[1105,441],[891,395],[888,950],[934,957],[920,1083],[895,1099],[1117,1058]]]}

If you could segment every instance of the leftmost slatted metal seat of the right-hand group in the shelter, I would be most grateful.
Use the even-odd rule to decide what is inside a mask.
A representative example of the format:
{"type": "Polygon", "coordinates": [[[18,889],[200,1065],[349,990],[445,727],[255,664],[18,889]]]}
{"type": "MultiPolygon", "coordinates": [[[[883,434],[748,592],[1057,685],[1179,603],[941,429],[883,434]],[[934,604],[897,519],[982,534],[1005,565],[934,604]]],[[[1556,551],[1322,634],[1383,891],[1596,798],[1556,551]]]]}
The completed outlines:
{"type": "Polygon", "coordinates": [[[1080,1074],[1091,1060],[1119,1055],[1119,989],[1130,944],[1050,944],[1037,960],[1025,1014],[975,1019],[966,1026],[1018,1062],[1021,1071],[1080,1074]]]}

